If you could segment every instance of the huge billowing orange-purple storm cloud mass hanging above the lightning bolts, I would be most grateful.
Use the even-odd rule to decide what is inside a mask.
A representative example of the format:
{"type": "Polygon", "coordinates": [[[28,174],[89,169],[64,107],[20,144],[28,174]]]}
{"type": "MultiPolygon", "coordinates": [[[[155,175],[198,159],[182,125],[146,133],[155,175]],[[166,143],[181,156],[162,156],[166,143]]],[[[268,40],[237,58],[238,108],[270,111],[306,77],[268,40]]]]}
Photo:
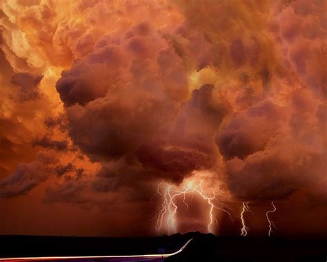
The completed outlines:
{"type": "MultiPolygon", "coordinates": [[[[28,139],[54,155],[69,144],[99,165],[92,175],[67,161],[51,169],[61,183],[49,202],[88,202],[81,191],[99,203],[143,200],[159,181],[197,171],[215,174],[235,201],[302,189],[326,200],[326,2],[24,3],[1,6],[15,103],[55,96],[61,115],[47,109],[42,135],[28,139]]],[[[1,178],[1,195],[46,180],[41,161],[1,178]]]]}

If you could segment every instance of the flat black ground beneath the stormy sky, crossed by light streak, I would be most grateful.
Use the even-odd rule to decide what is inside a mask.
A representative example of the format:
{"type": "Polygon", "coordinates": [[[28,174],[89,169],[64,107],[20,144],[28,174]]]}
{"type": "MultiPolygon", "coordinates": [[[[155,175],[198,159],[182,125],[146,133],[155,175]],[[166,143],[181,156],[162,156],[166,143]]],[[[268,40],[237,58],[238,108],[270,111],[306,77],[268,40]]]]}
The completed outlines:
{"type": "Polygon", "coordinates": [[[144,238],[0,236],[0,258],[170,253],[190,238],[183,252],[166,261],[327,261],[327,238],[223,237],[199,232],[144,238]]]}

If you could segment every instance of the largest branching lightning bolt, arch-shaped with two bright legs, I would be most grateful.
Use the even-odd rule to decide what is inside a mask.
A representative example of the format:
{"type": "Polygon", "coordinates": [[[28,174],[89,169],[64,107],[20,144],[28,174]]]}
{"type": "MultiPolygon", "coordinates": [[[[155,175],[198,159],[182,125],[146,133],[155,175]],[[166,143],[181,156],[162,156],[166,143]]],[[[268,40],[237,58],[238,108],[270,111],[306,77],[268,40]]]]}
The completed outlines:
{"type": "Polygon", "coordinates": [[[214,217],[214,210],[219,209],[222,212],[225,212],[228,214],[230,219],[232,220],[232,215],[230,212],[228,212],[227,209],[230,209],[226,205],[219,203],[220,205],[224,205],[224,207],[220,207],[218,205],[215,205],[213,203],[214,200],[216,200],[216,195],[215,192],[212,195],[208,195],[204,193],[204,188],[202,186],[203,180],[199,182],[199,184],[193,186],[192,181],[189,181],[186,184],[186,187],[182,187],[182,189],[177,189],[176,187],[173,187],[172,185],[167,185],[166,188],[162,191],[161,190],[161,185],[160,183],[157,187],[157,193],[155,195],[159,195],[162,198],[161,202],[161,209],[159,209],[159,212],[155,215],[155,218],[157,218],[157,223],[155,225],[155,230],[157,234],[159,235],[161,232],[162,227],[166,225],[168,228],[168,234],[171,232],[177,232],[177,204],[175,203],[175,200],[179,196],[183,196],[183,203],[186,205],[188,208],[188,203],[186,203],[186,195],[187,194],[192,194],[192,198],[194,194],[199,195],[202,199],[206,200],[210,207],[210,211],[208,214],[208,225],[207,225],[207,231],[208,232],[213,232],[212,225],[215,222],[218,225],[217,219],[214,217]]]}

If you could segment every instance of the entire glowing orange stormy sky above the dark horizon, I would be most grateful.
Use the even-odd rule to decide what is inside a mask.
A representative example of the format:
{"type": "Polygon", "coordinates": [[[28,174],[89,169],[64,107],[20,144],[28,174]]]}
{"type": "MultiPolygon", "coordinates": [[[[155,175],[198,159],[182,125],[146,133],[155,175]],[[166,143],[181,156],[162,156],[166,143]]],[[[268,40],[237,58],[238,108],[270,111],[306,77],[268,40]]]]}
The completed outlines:
{"type": "MultiPolygon", "coordinates": [[[[0,234],[153,235],[158,185],[201,183],[215,234],[266,235],[273,201],[274,234],[326,236],[326,12],[1,0],[0,234]]],[[[175,231],[206,232],[186,198],[175,231]]]]}

